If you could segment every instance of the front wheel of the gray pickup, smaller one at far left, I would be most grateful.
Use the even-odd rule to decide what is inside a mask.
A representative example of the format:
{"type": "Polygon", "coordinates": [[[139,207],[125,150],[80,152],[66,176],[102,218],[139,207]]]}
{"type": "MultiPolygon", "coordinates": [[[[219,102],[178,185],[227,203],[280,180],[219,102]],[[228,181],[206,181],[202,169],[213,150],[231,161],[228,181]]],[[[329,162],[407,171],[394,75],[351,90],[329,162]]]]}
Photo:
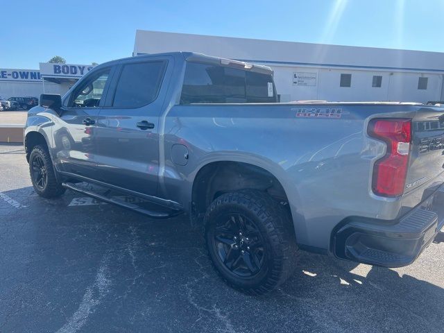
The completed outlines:
{"type": "Polygon", "coordinates": [[[44,146],[37,145],[29,156],[31,182],[38,195],[55,198],[65,193],[65,188],[58,182],[51,162],[51,156],[44,146]]]}

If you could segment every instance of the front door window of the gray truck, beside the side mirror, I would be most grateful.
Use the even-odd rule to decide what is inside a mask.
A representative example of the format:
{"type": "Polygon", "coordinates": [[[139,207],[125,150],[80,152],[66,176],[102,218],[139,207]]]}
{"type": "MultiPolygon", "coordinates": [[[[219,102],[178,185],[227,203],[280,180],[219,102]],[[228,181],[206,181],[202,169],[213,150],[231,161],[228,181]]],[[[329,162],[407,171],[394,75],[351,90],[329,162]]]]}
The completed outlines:
{"type": "Polygon", "coordinates": [[[68,106],[70,108],[98,107],[109,76],[110,69],[106,69],[86,78],[72,93],[68,106]]]}

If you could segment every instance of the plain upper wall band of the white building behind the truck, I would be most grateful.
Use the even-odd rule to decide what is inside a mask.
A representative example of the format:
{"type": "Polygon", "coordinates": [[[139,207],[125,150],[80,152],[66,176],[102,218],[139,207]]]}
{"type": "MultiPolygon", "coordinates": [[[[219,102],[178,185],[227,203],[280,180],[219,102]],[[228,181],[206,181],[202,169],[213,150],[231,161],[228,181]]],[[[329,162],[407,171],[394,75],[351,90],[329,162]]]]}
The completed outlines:
{"type": "Polygon", "coordinates": [[[444,73],[444,53],[366,46],[345,46],[137,30],[137,53],[182,49],[190,52],[262,62],[316,67],[344,67],[444,73]]]}

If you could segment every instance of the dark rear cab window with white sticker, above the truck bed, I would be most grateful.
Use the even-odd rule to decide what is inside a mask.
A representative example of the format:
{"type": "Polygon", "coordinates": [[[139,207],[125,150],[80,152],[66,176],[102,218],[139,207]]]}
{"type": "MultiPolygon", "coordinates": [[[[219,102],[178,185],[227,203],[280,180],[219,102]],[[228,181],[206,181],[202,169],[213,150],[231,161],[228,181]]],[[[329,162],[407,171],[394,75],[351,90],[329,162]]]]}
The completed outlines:
{"type": "Polygon", "coordinates": [[[187,62],[180,96],[191,103],[276,103],[272,74],[187,62]]]}

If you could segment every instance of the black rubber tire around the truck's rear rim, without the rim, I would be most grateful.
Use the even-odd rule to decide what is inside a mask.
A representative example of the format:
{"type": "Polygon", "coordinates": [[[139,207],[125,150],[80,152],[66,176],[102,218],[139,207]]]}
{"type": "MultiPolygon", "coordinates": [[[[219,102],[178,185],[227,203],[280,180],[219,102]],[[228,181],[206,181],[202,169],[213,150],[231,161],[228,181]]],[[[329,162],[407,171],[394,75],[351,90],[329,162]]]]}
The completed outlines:
{"type": "Polygon", "coordinates": [[[268,194],[257,190],[223,194],[208,207],[204,223],[208,255],[216,272],[230,287],[248,295],[261,296],[273,291],[293,273],[298,252],[293,223],[289,212],[268,194]],[[261,270],[249,278],[239,277],[225,266],[213,241],[218,232],[218,216],[220,221],[226,214],[237,212],[257,226],[266,249],[261,270]]]}

